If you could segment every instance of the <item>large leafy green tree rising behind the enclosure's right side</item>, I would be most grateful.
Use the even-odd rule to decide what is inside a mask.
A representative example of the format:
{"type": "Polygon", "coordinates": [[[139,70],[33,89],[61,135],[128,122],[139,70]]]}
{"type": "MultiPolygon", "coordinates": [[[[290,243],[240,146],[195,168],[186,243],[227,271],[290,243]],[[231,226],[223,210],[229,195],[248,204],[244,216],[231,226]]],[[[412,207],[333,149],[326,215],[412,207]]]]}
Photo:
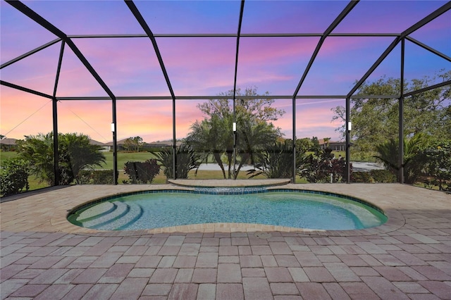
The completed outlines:
{"type": "MultiPolygon", "coordinates": [[[[435,76],[404,83],[404,93],[451,79],[451,71],[440,70],[435,76]]],[[[364,83],[357,95],[397,95],[400,94],[400,80],[381,77],[371,83],[364,83]]],[[[351,120],[353,140],[352,150],[375,151],[382,144],[398,136],[398,99],[351,99],[351,120]]],[[[424,132],[427,135],[451,139],[451,86],[438,87],[404,99],[404,135],[424,132]],[[431,126],[433,124],[433,126],[431,126]]],[[[345,108],[332,108],[333,120],[345,123],[345,108]]],[[[338,128],[345,135],[345,125],[338,128]]]]}

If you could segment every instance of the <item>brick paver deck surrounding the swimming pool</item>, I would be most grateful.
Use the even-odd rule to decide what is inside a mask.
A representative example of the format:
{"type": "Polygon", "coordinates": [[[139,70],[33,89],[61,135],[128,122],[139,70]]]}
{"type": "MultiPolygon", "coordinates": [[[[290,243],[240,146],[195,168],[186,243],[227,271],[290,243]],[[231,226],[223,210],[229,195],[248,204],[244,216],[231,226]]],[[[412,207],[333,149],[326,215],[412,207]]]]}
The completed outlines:
{"type": "Polygon", "coordinates": [[[66,220],[75,206],[112,194],[249,182],[174,183],[76,185],[2,199],[1,299],[451,299],[451,195],[429,189],[273,187],[369,201],[388,222],[366,230],[218,223],[111,232],[66,220]]]}

